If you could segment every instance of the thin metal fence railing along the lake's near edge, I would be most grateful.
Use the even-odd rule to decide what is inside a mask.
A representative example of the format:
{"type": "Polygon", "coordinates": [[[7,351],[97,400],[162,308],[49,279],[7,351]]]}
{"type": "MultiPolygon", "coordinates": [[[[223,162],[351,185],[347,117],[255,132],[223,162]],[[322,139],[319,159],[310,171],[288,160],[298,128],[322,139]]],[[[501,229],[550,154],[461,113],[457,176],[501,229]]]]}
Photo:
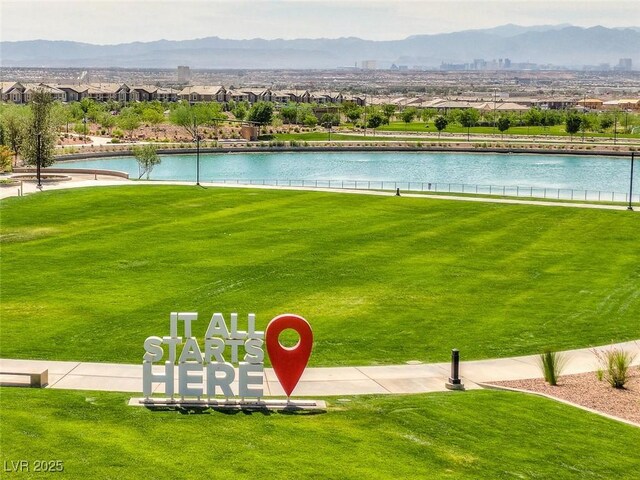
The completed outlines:
{"type": "MultiPolygon", "coordinates": [[[[462,193],[502,197],[546,198],[597,202],[629,202],[629,192],[585,190],[574,188],[531,187],[521,185],[482,185],[444,182],[406,182],[387,180],[279,180],[279,179],[210,179],[214,183],[265,185],[278,187],[313,187],[349,190],[396,190],[405,192],[462,193]]],[[[640,203],[640,193],[633,194],[632,203],[640,203]]]]}

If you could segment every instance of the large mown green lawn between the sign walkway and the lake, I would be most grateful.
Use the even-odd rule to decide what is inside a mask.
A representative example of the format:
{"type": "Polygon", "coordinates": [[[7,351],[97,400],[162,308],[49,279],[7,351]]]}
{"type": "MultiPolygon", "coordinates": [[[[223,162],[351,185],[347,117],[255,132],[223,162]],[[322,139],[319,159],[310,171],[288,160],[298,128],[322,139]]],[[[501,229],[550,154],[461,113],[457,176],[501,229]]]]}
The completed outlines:
{"type": "Polygon", "coordinates": [[[0,203],[0,357],[141,361],[169,312],[305,316],[310,364],[465,360],[638,338],[626,211],[123,186],[0,203]]]}

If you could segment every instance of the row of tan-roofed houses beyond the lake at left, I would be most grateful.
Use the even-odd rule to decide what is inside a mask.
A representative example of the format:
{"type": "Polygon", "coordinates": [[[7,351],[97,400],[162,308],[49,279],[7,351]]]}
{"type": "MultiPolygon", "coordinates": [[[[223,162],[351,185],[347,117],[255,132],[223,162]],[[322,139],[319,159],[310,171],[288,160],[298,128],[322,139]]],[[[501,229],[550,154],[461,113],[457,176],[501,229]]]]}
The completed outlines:
{"type": "Polygon", "coordinates": [[[127,84],[45,84],[1,82],[0,96],[3,102],[28,103],[35,89],[46,90],[56,100],[75,102],[89,98],[97,102],[114,100],[118,102],[145,102],[158,100],[161,102],[177,102],[184,100],[190,103],[198,102],[249,102],[259,101],[274,103],[343,103],[353,101],[359,105],[365,104],[365,98],[360,96],[345,96],[341,92],[310,92],[308,90],[266,89],[226,89],[222,85],[189,86],[181,90],[158,87],[155,85],[127,85],[127,84]]]}

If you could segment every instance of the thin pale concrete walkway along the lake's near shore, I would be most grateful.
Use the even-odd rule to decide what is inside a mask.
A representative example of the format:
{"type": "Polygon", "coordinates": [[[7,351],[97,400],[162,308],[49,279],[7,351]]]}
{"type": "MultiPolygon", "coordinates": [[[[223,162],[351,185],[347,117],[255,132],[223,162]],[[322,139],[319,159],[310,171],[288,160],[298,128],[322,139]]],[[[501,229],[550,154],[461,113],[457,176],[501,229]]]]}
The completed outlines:
{"type": "MultiPolygon", "coordinates": [[[[105,186],[117,186],[117,185],[194,185],[194,182],[178,182],[178,181],[132,181],[119,177],[111,177],[108,175],[93,175],[93,174],[70,174],[71,180],[48,183],[42,188],[42,191],[49,190],[61,190],[67,188],[81,188],[81,187],[105,187],[105,186]]],[[[217,187],[217,188],[258,188],[268,190],[299,190],[299,191],[311,191],[311,192],[333,192],[333,193],[350,193],[357,195],[377,195],[377,196],[394,196],[393,191],[379,191],[379,190],[356,190],[347,188],[321,188],[321,187],[295,187],[295,186],[274,186],[274,185],[242,185],[231,183],[218,183],[218,182],[201,182],[203,187],[217,187]]],[[[38,193],[35,182],[23,183],[23,194],[30,195],[38,193]]],[[[20,193],[19,187],[4,187],[0,189],[0,199],[7,197],[15,197],[20,193]]],[[[401,192],[403,197],[410,198],[423,198],[423,199],[435,199],[435,200],[456,200],[463,202],[484,202],[484,203],[504,203],[511,205],[538,205],[547,207],[569,207],[569,208],[593,208],[599,210],[627,210],[624,205],[607,205],[597,203],[571,203],[571,202],[550,202],[545,200],[524,200],[521,198],[487,198],[479,195],[477,197],[457,196],[457,195],[433,195],[433,194],[420,194],[420,193],[404,193],[401,192]]],[[[634,212],[640,212],[640,208],[636,207],[634,212]]]]}

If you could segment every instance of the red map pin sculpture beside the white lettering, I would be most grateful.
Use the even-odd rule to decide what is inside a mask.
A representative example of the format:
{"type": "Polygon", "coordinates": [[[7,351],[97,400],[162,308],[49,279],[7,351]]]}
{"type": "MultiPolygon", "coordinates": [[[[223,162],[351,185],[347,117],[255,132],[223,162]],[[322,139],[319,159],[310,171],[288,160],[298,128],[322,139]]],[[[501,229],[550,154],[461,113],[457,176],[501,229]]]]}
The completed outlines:
{"type": "Polygon", "coordinates": [[[302,372],[307,367],[311,355],[311,346],[313,345],[311,325],[298,315],[285,313],[269,322],[264,335],[273,370],[276,372],[287,397],[290,397],[302,376],[302,372]],[[300,340],[293,347],[285,347],[279,340],[280,334],[288,328],[295,330],[300,335],[300,340]]]}

